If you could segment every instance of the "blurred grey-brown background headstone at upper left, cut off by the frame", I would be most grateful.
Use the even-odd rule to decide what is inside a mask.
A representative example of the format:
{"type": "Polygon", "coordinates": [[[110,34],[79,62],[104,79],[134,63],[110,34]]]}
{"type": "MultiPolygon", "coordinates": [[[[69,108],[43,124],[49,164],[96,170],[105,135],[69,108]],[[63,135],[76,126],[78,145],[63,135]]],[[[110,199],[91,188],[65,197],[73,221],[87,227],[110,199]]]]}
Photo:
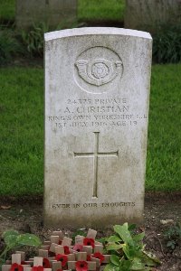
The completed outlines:
{"type": "Polygon", "coordinates": [[[40,22],[57,27],[75,20],[76,13],[77,0],[16,0],[15,23],[23,29],[40,22]]]}

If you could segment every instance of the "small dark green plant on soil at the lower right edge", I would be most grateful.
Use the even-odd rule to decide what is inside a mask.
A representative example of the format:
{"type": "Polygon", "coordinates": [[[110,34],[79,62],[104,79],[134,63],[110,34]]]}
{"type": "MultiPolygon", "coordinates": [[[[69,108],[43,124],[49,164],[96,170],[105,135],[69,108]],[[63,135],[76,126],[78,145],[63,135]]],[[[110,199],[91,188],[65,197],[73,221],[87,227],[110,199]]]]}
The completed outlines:
{"type": "Polygon", "coordinates": [[[176,222],[176,225],[167,229],[164,235],[167,238],[167,248],[175,249],[181,245],[181,224],[176,222]]]}

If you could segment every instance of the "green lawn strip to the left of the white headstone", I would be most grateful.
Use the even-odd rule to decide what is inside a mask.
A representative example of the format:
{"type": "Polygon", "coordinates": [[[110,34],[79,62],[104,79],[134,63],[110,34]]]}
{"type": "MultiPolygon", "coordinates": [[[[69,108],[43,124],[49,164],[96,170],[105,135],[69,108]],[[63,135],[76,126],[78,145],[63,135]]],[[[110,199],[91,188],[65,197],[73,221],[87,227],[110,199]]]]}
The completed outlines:
{"type": "Polygon", "coordinates": [[[0,194],[43,192],[43,70],[3,69],[0,194]]]}

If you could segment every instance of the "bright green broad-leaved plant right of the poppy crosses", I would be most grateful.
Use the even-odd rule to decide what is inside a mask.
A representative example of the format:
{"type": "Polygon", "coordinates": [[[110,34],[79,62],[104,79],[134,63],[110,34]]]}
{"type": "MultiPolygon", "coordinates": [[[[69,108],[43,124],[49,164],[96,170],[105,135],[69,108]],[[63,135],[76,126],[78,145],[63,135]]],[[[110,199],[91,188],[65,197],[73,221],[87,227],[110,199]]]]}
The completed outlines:
{"type": "Polygon", "coordinates": [[[128,223],[115,225],[115,234],[107,238],[107,251],[111,254],[110,264],[105,271],[131,271],[152,270],[153,266],[159,264],[157,257],[145,251],[143,238],[145,233],[135,234],[130,231],[128,223]]]}

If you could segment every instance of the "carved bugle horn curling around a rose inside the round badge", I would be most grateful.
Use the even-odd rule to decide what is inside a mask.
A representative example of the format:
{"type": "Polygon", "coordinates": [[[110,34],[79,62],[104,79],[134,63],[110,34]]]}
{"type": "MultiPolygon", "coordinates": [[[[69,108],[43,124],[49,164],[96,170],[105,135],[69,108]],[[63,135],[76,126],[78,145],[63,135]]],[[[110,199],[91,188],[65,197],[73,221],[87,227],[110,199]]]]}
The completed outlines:
{"type": "Polygon", "coordinates": [[[91,85],[101,86],[115,79],[122,69],[122,61],[107,61],[103,59],[75,63],[82,79],[91,85]]]}

